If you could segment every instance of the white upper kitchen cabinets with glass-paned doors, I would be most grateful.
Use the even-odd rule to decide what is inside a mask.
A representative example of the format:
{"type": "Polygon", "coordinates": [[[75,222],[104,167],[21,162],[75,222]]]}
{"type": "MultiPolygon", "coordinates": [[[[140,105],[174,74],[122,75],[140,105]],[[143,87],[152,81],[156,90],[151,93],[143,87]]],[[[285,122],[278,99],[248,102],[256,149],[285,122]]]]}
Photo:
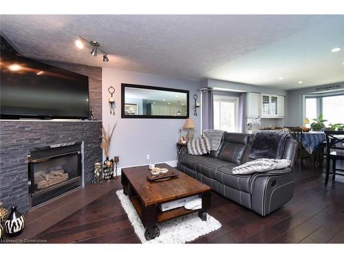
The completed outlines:
{"type": "Polygon", "coordinates": [[[283,118],[284,103],[284,96],[249,92],[246,94],[246,118],[283,118]]]}

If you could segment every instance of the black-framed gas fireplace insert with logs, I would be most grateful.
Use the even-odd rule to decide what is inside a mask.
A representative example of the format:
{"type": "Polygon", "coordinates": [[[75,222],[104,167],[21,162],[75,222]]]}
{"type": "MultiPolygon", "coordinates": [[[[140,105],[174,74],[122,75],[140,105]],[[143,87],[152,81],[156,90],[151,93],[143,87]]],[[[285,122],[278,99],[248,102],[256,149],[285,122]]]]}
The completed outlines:
{"type": "Polygon", "coordinates": [[[31,208],[81,186],[81,143],[29,151],[28,184],[31,208]]]}

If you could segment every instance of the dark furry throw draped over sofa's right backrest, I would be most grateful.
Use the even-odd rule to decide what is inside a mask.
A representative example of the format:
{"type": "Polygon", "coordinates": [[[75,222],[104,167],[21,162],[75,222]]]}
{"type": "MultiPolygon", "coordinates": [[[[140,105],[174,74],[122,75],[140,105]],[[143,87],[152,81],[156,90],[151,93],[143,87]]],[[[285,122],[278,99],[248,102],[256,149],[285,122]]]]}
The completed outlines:
{"type": "Polygon", "coordinates": [[[288,133],[274,131],[258,131],[253,139],[250,158],[272,158],[280,160],[283,155],[284,144],[290,138],[288,133]]]}

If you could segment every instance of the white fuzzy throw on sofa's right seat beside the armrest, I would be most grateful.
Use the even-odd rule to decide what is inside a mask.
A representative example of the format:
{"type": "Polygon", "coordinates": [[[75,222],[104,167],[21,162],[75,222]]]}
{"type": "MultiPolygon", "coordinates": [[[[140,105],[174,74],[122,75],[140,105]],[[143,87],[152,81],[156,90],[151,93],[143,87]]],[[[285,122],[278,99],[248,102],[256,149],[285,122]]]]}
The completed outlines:
{"type": "MultiPolygon", "coordinates": [[[[246,162],[240,166],[233,168],[233,174],[247,175],[257,172],[266,172],[274,169],[285,169],[290,165],[290,160],[273,160],[268,158],[260,158],[246,162]]],[[[274,171],[274,173],[286,173],[286,171],[274,171]]]]}

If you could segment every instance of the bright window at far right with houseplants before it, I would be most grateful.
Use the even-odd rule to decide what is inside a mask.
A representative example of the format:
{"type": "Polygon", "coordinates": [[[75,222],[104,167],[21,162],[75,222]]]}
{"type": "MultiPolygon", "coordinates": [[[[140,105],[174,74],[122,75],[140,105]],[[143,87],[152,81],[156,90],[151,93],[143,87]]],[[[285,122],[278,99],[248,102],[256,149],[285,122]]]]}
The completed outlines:
{"type": "Polygon", "coordinates": [[[336,123],[344,123],[344,95],[336,96],[316,96],[305,97],[305,118],[313,122],[323,114],[323,119],[327,120],[326,126],[336,123]]]}

